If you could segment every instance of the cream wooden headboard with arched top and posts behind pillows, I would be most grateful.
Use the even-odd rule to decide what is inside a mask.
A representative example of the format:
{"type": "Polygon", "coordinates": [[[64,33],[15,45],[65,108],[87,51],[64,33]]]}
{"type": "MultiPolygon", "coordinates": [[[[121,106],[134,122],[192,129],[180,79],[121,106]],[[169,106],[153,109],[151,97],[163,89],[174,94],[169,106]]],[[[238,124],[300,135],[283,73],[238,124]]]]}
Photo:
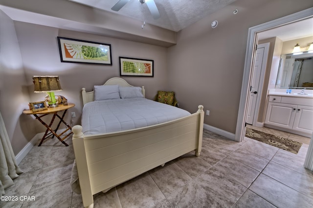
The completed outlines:
{"type": "MultiPolygon", "coordinates": [[[[134,87],[133,85],[128,84],[125,79],[122,79],[120,77],[113,77],[109,79],[108,81],[106,81],[106,83],[104,83],[103,85],[116,85],[116,84],[121,87],[134,87]]],[[[144,86],[141,87],[141,92],[142,92],[142,95],[146,97],[144,86]]],[[[86,92],[86,89],[82,88],[82,95],[83,95],[84,105],[94,100],[93,91],[86,92]]]]}

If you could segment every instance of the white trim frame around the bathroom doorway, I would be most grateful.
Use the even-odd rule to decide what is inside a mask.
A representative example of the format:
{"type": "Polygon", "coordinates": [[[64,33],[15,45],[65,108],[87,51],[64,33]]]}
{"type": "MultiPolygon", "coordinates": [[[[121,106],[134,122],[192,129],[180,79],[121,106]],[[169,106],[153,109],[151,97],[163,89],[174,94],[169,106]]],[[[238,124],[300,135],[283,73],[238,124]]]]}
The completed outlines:
{"type": "MultiPolygon", "coordinates": [[[[255,45],[257,42],[257,33],[265,30],[269,30],[275,27],[279,27],[285,24],[296,22],[302,19],[308,19],[313,17],[313,8],[303,10],[301,12],[280,18],[275,19],[254,27],[249,28],[248,30],[248,39],[246,47],[246,61],[245,69],[243,75],[243,83],[241,89],[241,97],[239,103],[239,111],[237,117],[237,126],[235,133],[235,140],[242,141],[246,132],[246,115],[247,115],[247,106],[249,102],[249,88],[251,83],[251,66],[252,60],[255,54],[255,45]]],[[[311,137],[309,149],[307,152],[305,160],[305,168],[313,170],[313,136],[311,137]]]]}

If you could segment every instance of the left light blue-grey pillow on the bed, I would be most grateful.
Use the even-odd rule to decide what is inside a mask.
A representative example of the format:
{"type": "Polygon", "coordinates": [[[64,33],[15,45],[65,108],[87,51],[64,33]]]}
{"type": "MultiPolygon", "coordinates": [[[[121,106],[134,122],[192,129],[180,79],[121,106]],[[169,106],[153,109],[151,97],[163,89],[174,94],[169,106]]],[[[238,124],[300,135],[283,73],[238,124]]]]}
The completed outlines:
{"type": "Polygon", "coordinates": [[[95,85],[94,100],[120,99],[118,85],[95,85]]]}

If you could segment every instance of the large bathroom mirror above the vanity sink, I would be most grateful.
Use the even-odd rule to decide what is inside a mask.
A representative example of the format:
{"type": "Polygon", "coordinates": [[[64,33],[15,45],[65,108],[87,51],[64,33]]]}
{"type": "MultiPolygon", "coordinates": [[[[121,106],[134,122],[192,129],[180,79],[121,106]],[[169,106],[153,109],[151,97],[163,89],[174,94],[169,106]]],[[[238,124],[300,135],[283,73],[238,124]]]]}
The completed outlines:
{"type": "Polygon", "coordinates": [[[275,88],[313,90],[313,53],[281,55],[275,88]]]}

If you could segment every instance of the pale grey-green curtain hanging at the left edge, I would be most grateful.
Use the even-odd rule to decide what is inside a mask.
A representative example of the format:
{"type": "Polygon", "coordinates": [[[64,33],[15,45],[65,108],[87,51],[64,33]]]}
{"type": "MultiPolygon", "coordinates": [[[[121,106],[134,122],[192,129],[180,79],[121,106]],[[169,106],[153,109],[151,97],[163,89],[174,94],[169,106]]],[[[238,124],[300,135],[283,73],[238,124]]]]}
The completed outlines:
{"type": "Polygon", "coordinates": [[[23,171],[15,161],[11,142],[6,132],[2,115],[0,113],[0,195],[4,195],[4,189],[14,184],[13,179],[19,177],[23,171]]]}

